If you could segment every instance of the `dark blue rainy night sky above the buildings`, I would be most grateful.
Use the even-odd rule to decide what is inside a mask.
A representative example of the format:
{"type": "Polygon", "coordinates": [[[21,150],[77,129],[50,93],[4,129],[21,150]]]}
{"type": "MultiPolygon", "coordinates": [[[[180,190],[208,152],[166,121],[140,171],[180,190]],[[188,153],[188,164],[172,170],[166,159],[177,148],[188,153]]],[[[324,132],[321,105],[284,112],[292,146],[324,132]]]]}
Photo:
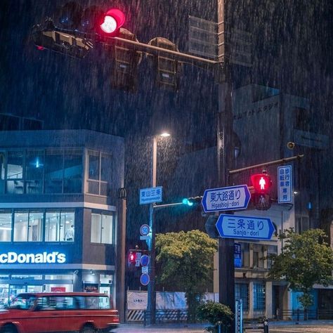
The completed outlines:
{"type": "MultiPolygon", "coordinates": [[[[155,84],[152,59],[143,55],[137,92],[130,93],[111,88],[112,55],[100,46],[84,59],[38,51],[30,35],[33,25],[55,15],[66,2],[0,1],[0,112],[41,119],[44,129],[92,129],[124,136],[125,185],[133,207],[129,209],[129,225],[146,223],[142,220],[148,216],[147,211],[138,211],[137,190],[149,185],[150,136],[161,129],[173,133],[168,143],[171,154],[160,149],[158,175],[159,183],[166,188],[166,200],[172,202],[183,187],[173,183],[173,172],[184,152],[216,144],[216,79],[211,71],[183,64],[178,90],[160,89],[155,84]]],[[[188,52],[188,15],[216,20],[213,0],[79,3],[82,7],[98,4],[120,8],[126,13],[124,27],[139,41],[148,43],[154,37],[164,37],[183,52],[188,52]]],[[[253,67],[233,68],[234,88],[256,83],[309,98],[313,122],[321,133],[329,133],[333,102],[332,1],[241,0],[228,4],[230,25],[252,32],[253,41],[253,67]]],[[[196,170],[184,172],[195,174],[196,170]]],[[[214,184],[216,177],[207,180],[207,188],[209,181],[214,184]]],[[[194,191],[183,195],[200,194],[194,191]]],[[[186,215],[184,211],[174,214],[182,218],[186,215]]],[[[203,228],[200,212],[191,214],[186,215],[184,228],[203,228]]],[[[129,233],[130,242],[136,237],[129,233]]]]}

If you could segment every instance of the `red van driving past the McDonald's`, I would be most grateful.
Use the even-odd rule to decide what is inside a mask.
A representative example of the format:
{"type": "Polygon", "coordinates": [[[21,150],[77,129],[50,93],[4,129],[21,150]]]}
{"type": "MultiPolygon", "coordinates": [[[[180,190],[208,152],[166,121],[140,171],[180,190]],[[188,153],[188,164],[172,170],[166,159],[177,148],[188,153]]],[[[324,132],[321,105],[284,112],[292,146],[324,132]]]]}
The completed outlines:
{"type": "Polygon", "coordinates": [[[118,311],[106,294],[23,293],[0,311],[1,333],[110,332],[118,325],[118,311]]]}

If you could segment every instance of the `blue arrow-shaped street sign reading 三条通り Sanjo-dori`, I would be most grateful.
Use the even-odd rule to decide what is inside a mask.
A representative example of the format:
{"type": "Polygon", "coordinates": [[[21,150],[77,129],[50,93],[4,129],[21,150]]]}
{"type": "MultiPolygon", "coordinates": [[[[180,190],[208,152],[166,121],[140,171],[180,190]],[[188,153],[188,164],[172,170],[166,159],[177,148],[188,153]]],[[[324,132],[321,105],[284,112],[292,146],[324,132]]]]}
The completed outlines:
{"type": "Polygon", "coordinates": [[[270,240],[275,230],[269,218],[252,216],[218,216],[216,229],[221,237],[245,240],[270,240]]]}

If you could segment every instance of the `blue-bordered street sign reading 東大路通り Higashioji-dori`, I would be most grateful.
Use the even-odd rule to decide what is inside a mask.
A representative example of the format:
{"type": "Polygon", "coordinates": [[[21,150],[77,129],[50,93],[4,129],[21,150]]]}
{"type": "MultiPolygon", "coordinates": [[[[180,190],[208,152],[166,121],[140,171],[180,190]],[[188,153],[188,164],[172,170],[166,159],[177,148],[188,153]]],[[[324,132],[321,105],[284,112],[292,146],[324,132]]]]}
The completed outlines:
{"type": "Polygon", "coordinates": [[[202,207],[204,211],[228,211],[246,209],[251,199],[247,185],[229,186],[228,188],[211,188],[204,191],[202,207]]]}

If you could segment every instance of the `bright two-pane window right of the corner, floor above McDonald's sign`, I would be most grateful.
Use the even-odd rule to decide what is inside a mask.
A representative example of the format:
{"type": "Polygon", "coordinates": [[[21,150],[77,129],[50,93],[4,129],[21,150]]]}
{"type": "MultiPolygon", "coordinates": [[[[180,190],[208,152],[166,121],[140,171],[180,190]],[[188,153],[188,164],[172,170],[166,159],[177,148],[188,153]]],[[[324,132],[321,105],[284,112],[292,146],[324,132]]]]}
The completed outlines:
{"type": "Polygon", "coordinates": [[[91,213],[91,242],[113,244],[113,216],[91,213]]]}

